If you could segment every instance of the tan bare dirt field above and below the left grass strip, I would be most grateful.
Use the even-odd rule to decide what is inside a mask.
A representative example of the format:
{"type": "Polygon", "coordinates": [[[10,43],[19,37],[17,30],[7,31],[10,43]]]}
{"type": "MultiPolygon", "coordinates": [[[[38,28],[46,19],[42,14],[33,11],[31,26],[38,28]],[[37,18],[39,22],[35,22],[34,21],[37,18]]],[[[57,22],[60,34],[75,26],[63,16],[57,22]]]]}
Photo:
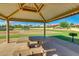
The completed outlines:
{"type": "MultiPolygon", "coordinates": [[[[1,31],[0,34],[2,35],[6,35],[5,34],[6,31],[1,31]]],[[[60,32],[53,32],[53,31],[49,31],[46,30],[46,34],[56,34],[56,33],[60,33],[60,32]]],[[[12,34],[27,34],[27,35],[32,35],[32,34],[39,34],[39,35],[43,35],[44,34],[44,30],[43,29],[31,29],[31,30],[12,30],[10,31],[10,35],[12,34]]],[[[10,38],[10,42],[16,42],[18,39],[21,38],[10,38]]],[[[0,43],[6,42],[6,39],[0,39],[0,43]]]]}

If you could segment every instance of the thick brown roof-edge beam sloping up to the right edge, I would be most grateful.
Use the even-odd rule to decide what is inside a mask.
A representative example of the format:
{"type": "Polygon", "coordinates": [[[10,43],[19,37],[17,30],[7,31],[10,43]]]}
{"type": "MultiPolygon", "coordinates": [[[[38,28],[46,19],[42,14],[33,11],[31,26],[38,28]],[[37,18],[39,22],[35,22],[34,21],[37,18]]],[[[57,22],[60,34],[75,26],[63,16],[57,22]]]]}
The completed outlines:
{"type": "Polygon", "coordinates": [[[69,16],[72,16],[74,14],[77,14],[79,13],[79,7],[75,8],[75,9],[72,9],[72,10],[69,10],[69,11],[66,11],[56,17],[53,17],[51,19],[48,19],[47,22],[51,22],[51,21],[54,21],[54,20],[58,20],[58,19],[62,19],[62,18],[66,18],[66,17],[69,17],[69,16]]]}

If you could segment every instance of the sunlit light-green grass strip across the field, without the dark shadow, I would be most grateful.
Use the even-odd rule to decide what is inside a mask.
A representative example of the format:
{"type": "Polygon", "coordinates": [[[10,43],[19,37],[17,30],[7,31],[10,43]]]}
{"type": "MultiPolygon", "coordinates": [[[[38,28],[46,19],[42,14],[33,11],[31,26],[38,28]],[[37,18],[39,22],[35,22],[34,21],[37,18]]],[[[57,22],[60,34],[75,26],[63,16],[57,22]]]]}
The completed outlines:
{"type": "MultiPolygon", "coordinates": [[[[52,30],[52,32],[58,32],[58,33],[54,33],[54,34],[46,34],[46,36],[67,36],[69,37],[69,33],[73,32],[73,31],[62,31],[62,30],[52,30]]],[[[75,32],[78,34],[78,36],[76,37],[77,39],[79,38],[79,32],[75,32]]],[[[14,34],[14,35],[10,35],[10,38],[19,38],[19,37],[24,37],[24,36],[43,36],[43,34],[14,34]]],[[[0,39],[4,39],[6,38],[6,35],[0,35],[0,39]]]]}

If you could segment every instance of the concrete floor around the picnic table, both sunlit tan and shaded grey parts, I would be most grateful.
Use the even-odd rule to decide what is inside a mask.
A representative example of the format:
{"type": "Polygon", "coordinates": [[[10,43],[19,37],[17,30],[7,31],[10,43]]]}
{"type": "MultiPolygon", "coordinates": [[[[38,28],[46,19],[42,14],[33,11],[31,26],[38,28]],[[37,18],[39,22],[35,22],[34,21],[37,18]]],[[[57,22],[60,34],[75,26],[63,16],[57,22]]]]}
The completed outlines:
{"type": "MultiPolygon", "coordinates": [[[[37,39],[37,38],[36,38],[37,39]]],[[[49,49],[55,49],[56,48],[56,53],[54,52],[48,52],[47,56],[79,56],[79,45],[70,43],[61,39],[57,38],[39,38],[38,40],[43,40],[44,44],[43,47],[45,50],[49,49]]],[[[35,39],[34,39],[35,40],[35,39]]],[[[0,44],[0,55],[12,55],[13,51],[15,50],[16,47],[22,46],[23,49],[24,46],[26,47],[26,43],[9,43],[9,44],[0,44]],[[4,49],[5,48],[5,49],[4,49]],[[12,52],[10,52],[12,51],[12,52]],[[9,53],[8,53],[9,52],[9,53]]]]}

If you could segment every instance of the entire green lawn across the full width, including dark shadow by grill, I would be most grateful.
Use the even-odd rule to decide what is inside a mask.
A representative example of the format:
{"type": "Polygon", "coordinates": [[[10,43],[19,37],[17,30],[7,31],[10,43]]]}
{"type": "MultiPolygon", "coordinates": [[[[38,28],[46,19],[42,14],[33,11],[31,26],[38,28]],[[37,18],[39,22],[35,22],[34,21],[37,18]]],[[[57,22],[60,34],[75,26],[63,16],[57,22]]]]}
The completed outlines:
{"type": "MultiPolygon", "coordinates": [[[[69,30],[49,30],[51,32],[56,32],[53,34],[46,34],[46,36],[53,36],[65,41],[71,42],[71,36],[69,36],[69,33],[75,32],[78,36],[75,37],[75,43],[79,44],[79,32],[76,31],[69,31],[69,30]]],[[[20,38],[20,37],[28,37],[28,36],[43,36],[43,34],[13,34],[10,35],[10,38],[20,38]]],[[[0,35],[0,39],[5,39],[6,35],[0,35]]]]}

